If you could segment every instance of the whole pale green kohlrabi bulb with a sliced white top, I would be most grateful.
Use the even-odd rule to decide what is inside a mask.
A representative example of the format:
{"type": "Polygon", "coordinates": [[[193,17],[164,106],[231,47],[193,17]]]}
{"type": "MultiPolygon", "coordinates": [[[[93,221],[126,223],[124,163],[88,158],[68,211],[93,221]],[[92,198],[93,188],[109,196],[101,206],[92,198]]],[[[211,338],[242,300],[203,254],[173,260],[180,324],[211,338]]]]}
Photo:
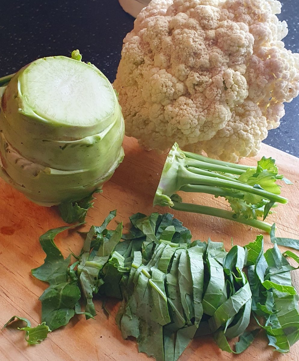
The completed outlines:
{"type": "Polygon", "coordinates": [[[123,159],[123,136],[117,96],[93,65],[38,59],[2,89],[0,176],[38,204],[101,188],[123,159]]]}

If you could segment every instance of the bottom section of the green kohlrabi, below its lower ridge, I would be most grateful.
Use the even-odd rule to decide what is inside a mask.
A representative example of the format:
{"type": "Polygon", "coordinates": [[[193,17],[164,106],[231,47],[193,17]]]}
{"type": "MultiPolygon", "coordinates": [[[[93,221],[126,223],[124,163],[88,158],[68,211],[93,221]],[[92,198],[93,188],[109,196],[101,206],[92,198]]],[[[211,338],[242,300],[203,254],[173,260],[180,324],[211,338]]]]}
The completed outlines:
{"type": "Polygon", "coordinates": [[[114,162],[106,169],[100,165],[92,169],[61,171],[28,161],[6,142],[3,134],[1,138],[1,177],[29,199],[44,206],[76,201],[90,195],[112,177],[124,157],[120,147],[114,162]]]}

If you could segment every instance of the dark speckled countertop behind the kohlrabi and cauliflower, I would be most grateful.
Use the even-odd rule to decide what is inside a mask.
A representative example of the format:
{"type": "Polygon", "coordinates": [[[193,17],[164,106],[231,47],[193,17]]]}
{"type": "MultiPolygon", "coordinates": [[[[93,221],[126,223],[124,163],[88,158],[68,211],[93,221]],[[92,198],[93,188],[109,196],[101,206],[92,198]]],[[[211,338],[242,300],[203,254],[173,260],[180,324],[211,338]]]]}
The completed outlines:
{"type": "MultiPolygon", "coordinates": [[[[299,0],[281,1],[279,18],[286,20],[286,48],[299,52],[299,0]]],[[[0,76],[44,56],[69,56],[80,49],[114,81],[122,39],[133,27],[118,0],[10,0],[0,13],[0,76]]],[[[299,97],[285,103],[286,115],[265,143],[299,157],[299,97]]]]}

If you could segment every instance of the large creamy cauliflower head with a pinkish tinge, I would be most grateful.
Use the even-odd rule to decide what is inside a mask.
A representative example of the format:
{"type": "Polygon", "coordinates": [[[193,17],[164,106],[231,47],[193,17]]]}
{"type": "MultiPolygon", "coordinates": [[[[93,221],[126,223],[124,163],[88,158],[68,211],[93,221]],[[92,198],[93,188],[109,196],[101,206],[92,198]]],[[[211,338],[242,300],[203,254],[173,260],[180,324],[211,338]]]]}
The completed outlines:
{"type": "Polygon", "coordinates": [[[114,87],[126,135],[227,161],[255,156],[299,93],[277,0],[152,0],[124,39],[114,87]]]}

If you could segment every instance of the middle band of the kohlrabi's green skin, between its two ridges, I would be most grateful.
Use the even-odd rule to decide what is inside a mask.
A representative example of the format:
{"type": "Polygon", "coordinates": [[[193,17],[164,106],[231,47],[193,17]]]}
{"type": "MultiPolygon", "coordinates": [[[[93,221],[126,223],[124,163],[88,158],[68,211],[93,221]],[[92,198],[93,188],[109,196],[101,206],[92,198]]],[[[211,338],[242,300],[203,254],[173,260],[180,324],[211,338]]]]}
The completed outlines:
{"type": "Polygon", "coordinates": [[[12,129],[6,119],[1,118],[0,113],[0,131],[1,129],[7,143],[13,144],[13,148],[24,158],[60,170],[79,170],[87,165],[93,168],[96,165],[105,167],[112,164],[119,153],[125,132],[120,106],[117,106],[107,128],[99,134],[78,140],[24,137],[20,131],[12,129]]]}

